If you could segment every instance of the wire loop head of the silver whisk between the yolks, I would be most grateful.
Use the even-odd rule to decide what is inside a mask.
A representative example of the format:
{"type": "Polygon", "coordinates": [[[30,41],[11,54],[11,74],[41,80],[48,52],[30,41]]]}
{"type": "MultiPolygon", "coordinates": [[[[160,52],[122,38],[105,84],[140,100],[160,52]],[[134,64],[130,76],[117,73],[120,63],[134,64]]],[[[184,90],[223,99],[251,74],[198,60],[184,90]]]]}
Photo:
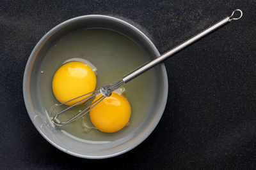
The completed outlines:
{"type": "Polygon", "coordinates": [[[123,80],[119,80],[119,81],[116,81],[115,83],[112,83],[110,85],[107,85],[107,86],[104,86],[104,87],[101,87],[100,89],[98,90],[95,90],[93,92],[90,92],[88,94],[84,94],[83,96],[79,96],[79,97],[76,97],[74,99],[71,99],[69,101],[66,101],[65,103],[61,103],[61,104],[58,104],[56,106],[54,106],[54,108],[52,108],[51,110],[51,115],[52,115],[52,112],[54,110],[56,110],[56,108],[59,108],[60,106],[62,105],[65,105],[66,103],[70,102],[70,101],[74,101],[76,99],[79,99],[81,97],[84,97],[84,96],[88,96],[84,99],[82,99],[81,101],[75,103],[75,104],[72,104],[71,106],[68,106],[68,108],[65,108],[64,110],[58,112],[52,119],[52,123],[56,126],[56,127],[61,127],[63,125],[66,125],[66,124],[69,124],[71,122],[74,122],[75,120],[77,120],[78,118],[81,118],[83,117],[83,115],[85,115],[86,113],[88,113],[90,110],[92,110],[92,108],[94,108],[97,104],[99,104],[103,99],[105,99],[106,97],[109,97],[111,96],[112,92],[116,89],[118,89],[118,87],[120,87],[121,85],[124,84],[124,81],[123,80]],[[99,99],[97,99],[96,101],[94,101],[92,104],[90,104],[90,106],[87,106],[84,110],[80,111],[77,115],[75,115],[74,117],[70,118],[69,120],[67,120],[66,122],[60,122],[58,121],[58,116],[62,113],[64,113],[65,111],[67,110],[70,110],[71,108],[73,108],[74,106],[77,106],[78,104],[81,104],[83,103],[84,101],[86,102],[89,102],[90,100],[89,99],[92,99],[92,97],[95,97],[95,96],[98,96],[99,94],[102,94],[101,97],[99,97],[99,99]],[[90,95],[90,96],[89,96],[90,95]]]}

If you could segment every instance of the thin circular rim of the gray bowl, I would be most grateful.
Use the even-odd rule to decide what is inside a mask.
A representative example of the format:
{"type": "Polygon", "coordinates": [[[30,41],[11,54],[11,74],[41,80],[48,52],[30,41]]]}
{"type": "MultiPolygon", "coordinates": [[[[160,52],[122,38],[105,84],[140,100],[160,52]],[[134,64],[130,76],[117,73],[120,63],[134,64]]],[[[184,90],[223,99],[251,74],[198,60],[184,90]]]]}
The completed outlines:
{"type": "Polygon", "coordinates": [[[140,143],[142,143],[146,138],[148,138],[148,136],[152,133],[152,131],[154,131],[154,129],[156,128],[156,125],[159,123],[159,120],[161,119],[165,106],[166,106],[166,102],[167,102],[167,97],[168,97],[168,76],[166,73],[166,68],[164,66],[164,64],[159,64],[159,66],[161,66],[161,71],[163,71],[163,86],[164,86],[164,94],[163,94],[163,102],[161,103],[160,106],[160,110],[159,110],[159,117],[156,118],[156,121],[154,122],[153,125],[150,126],[150,128],[147,130],[147,132],[145,132],[145,134],[143,134],[143,136],[136,141],[136,143],[132,143],[132,145],[130,145],[128,148],[126,148],[125,150],[121,150],[120,152],[116,152],[113,154],[108,154],[108,155],[82,155],[80,153],[75,153],[75,152],[70,152],[67,149],[59,146],[58,144],[56,144],[54,141],[52,141],[51,139],[49,139],[44,132],[42,132],[40,130],[40,128],[38,127],[38,125],[36,125],[36,121],[32,116],[32,112],[33,110],[31,108],[33,108],[32,104],[29,103],[28,100],[28,90],[27,90],[27,86],[28,86],[28,74],[29,74],[29,68],[31,67],[31,63],[33,62],[35,56],[36,56],[36,52],[38,51],[38,48],[40,48],[40,46],[42,45],[42,43],[44,43],[44,41],[51,36],[51,34],[53,34],[54,32],[58,31],[58,29],[60,29],[61,27],[65,27],[66,25],[72,24],[73,22],[76,22],[77,20],[84,20],[86,18],[103,18],[106,20],[112,20],[114,22],[119,22],[120,24],[124,24],[125,26],[129,27],[130,29],[132,29],[135,32],[138,32],[138,34],[140,34],[140,36],[142,36],[144,39],[146,39],[148,41],[148,44],[150,45],[150,48],[152,48],[152,50],[154,50],[155,53],[157,53],[157,55],[159,56],[160,53],[158,52],[156,46],[154,45],[154,43],[152,43],[152,41],[143,33],[141,32],[138,28],[136,28],[134,25],[129,24],[128,22],[121,20],[120,18],[116,18],[116,17],[111,17],[108,15],[82,15],[80,17],[75,17],[75,18],[71,18],[69,20],[66,20],[64,22],[61,22],[61,24],[56,25],[55,27],[53,27],[50,31],[48,31],[41,39],[40,41],[38,41],[38,43],[36,43],[36,46],[33,48],[33,51],[31,52],[29,59],[27,61],[26,67],[25,67],[25,71],[24,71],[24,77],[23,77],[23,97],[24,97],[24,103],[26,105],[26,110],[28,111],[28,115],[31,119],[31,121],[33,122],[33,125],[36,127],[37,131],[49,142],[51,143],[51,145],[55,146],[56,148],[58,148],[59,150],[68,153],[70,155],[76,156],[76,157],[81,157],[81,158],[86,158],[86,159],[106,159],[109,157],[115,157],[117,155],[121,155],[122,153],[128,152],[129,150],[132,150],[133,148],[135,148],[136,146],[140,145],[140,143]]]}

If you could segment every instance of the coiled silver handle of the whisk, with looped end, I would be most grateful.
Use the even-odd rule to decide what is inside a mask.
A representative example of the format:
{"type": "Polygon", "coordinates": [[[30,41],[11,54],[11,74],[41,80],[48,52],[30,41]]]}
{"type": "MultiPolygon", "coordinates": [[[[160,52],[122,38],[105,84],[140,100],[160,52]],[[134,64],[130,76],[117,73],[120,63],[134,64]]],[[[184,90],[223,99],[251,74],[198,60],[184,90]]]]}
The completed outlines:
{"type": "Polygon", "coordinates": [[[163,62],[163,60],[168,59],[168,57],[172,56],[173,54],[175,54],[175,53],[179,52],[180,50],[186,48],[187,46],[191,45],[192,43],[195,43],[195,41],[197,41],[198,39],[206,36],[207,34],[209,34],[212,31],[218,29],[222,25],[225,25],[225,24],[227,24],[228,22],[230,22],[232,20],[238,20],[239,18],[242,17],[242,15],[243,15],[243,12],[241,10],[234,10],[232,15],[230,15],[229,17],[223,18],[222,20],[220,20],[216,24],[212,25],[211,27],[209,27],[209,28],[205,29],[204,31],[196,34],[195,36],[187,39],[186,41],[184,41],[183,43],[181,43],[178,46],[175,46],[174,48],[172,48],[168,52],[163,53],[163,55],[157,57],[157,59],[154,59],[151,62],[148,62],[147,64],[145,64],[144,66],[141,66],[138,69],[132,71],[132,73],[130,73],[127,76],[125,76],[124,78],[122,78],[122,80],[125,83],[127,83],[128,81],[136,78],[137,76],[139,76],[140,74],[144,73],[148,69],[150,69],[150,68],[156,66],[157,64],[163,62]],[[236,11],[240,12],[240,17],[237,17],[237,18],[233,17],[234,13],[236,11]]]}

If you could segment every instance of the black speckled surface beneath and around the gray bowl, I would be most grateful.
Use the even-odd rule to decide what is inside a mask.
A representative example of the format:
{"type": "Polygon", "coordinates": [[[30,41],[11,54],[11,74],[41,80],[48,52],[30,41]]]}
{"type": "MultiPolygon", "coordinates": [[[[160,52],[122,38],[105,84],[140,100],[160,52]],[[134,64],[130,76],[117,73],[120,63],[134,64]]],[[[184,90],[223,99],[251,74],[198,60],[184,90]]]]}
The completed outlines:
{"type": "Polygon", "coordinates": [[[0,1],[1,169],[255,169],[256,3],[237,1],[0,1]],[[72,157],[36,131],[24,106],[26,61],[45,32],[87,14],[126,18],[160,53],[230,15],[221,27],[164,64],[169,94],[152,134],[104,160],[72,157]]]}

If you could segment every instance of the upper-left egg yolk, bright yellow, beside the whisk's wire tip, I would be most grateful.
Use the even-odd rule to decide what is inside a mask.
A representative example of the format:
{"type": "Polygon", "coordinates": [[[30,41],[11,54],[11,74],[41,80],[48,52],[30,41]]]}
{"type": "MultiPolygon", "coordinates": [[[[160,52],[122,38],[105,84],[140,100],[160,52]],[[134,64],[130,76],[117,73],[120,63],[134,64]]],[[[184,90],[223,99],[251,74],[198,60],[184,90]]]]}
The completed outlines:
{"type": "MultiPolygon", "coordinates": [[[[96,83],[96,75],[90,66],[83,62],[72,61],[56,71],[52,80],[52,90],[56,99],[64,103],[92,92],[95,90],[96,83]]],[[[70,106],[91,95],[70,101],[66,105],[70,106]]]]}

